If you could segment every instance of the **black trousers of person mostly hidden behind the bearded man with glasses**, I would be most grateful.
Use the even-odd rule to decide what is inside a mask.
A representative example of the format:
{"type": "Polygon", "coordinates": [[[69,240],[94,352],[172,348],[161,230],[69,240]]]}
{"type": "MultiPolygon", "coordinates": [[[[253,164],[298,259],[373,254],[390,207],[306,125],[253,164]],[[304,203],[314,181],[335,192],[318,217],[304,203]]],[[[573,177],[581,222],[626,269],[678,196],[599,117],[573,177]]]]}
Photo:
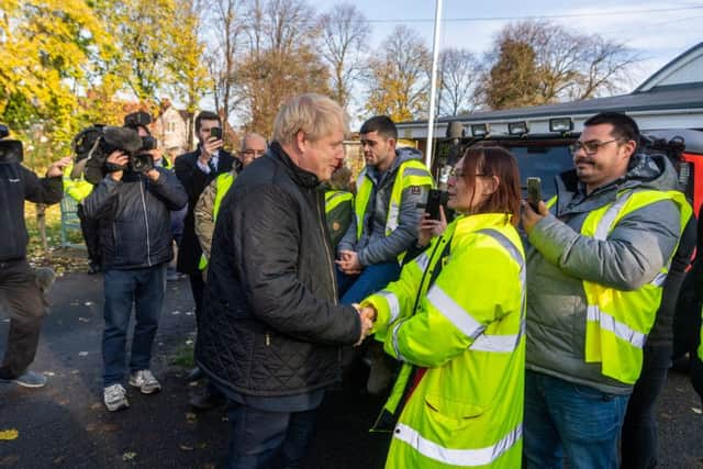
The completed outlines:
{"type": "Polygon", "coordinates": [[[657,398],[667,382],[671,347],[645,347],[641,375],[627,402],[621,436],[621,468],[657,466],[657,398]]]}

